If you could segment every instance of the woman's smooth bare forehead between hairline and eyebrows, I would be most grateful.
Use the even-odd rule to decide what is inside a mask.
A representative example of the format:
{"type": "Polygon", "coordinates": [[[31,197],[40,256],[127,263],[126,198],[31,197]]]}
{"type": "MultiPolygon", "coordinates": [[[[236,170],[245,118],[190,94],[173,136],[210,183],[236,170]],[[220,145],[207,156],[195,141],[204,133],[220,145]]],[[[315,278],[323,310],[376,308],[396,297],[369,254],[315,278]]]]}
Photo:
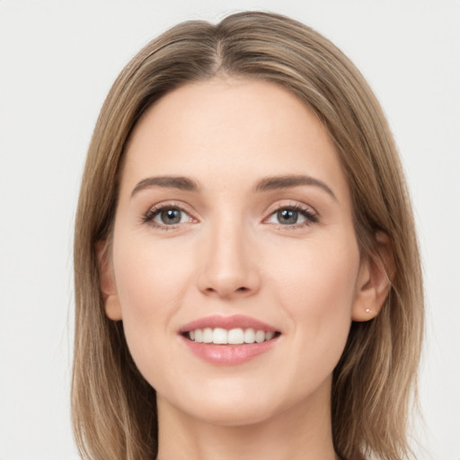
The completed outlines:
{"type": "Polygon", "coordinates": [[[126,155],[122,186],[148,175],[224,185],[297,173],[348,189],[314,113],[293,93],[261,80],[218,77],[168,93],[139,120],[126,155]]]}

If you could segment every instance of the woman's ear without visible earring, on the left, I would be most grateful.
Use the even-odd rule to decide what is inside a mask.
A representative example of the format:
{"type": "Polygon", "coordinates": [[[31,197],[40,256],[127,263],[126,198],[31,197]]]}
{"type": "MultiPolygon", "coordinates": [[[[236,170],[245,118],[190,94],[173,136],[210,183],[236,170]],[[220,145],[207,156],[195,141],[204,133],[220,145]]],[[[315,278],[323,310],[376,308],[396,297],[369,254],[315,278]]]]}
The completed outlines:
{"type": "Polygon", "coordinates": [[[121,320],[121,306],[115,282],[115,275],[106,241],[96,243],[97,260],[99,263],[99,279],[101,282],[102,298],[105,314],[113,320],[121,320]]]}

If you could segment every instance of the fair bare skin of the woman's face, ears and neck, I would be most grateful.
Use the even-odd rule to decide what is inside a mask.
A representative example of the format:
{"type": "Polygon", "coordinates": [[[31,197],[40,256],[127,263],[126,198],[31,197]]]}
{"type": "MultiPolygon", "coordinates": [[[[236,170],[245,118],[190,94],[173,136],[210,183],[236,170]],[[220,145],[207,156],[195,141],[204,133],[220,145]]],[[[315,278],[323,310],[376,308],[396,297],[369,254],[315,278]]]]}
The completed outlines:
{"type": "Polygon", "coordinates": [[[360,257],[339,157],[305,104],[275,84],[225,77],[166,95],[129,140],[101,260],[106,313],[123,321],[157,392],[159,459],[338,458],[332,370],[351,321],[378,313],[387,282],[360,257]],[[333,196],[314,184],[254,190],[298,174],[333,196]],[[153,176],[190,178],[199,190],[133,194],[153,176]],[[181,208],[181,223],[164,224],[159,206],[181,208]],[[293,206],[308,214],[280,222],[279,209],[293,206]],[[217,366],[179,333],[209,314],[248,315],[280,335],[266,353],[217,366]]]}

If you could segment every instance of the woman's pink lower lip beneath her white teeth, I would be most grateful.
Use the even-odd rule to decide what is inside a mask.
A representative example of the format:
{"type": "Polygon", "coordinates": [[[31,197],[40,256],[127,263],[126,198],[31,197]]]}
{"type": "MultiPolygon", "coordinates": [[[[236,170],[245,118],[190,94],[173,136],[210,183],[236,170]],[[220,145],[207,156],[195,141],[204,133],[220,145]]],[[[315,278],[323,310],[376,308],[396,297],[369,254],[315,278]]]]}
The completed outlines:
{"type": "Polygon", "coordinates": [[[277,338],[261,343],[247,343],[244,345],[216,345],[213,343],[199,343],[183,338],[190,351],[208,363],[223,366],[243,364],[262,353],[269,351],[276,343],[277,338]]]}

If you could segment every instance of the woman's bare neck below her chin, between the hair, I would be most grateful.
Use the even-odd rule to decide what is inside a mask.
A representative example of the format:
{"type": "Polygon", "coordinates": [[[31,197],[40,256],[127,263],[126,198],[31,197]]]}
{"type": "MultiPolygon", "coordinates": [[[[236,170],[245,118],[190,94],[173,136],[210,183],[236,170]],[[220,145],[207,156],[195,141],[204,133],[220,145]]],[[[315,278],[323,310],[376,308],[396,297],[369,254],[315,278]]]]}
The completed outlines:
{"type": "Polygon", "coordinates": [[[158,397],[157,460],[339,460],[332,445],[329,394],[296,403],[269,420],[238,426],[199,420],[158,397]]]}

